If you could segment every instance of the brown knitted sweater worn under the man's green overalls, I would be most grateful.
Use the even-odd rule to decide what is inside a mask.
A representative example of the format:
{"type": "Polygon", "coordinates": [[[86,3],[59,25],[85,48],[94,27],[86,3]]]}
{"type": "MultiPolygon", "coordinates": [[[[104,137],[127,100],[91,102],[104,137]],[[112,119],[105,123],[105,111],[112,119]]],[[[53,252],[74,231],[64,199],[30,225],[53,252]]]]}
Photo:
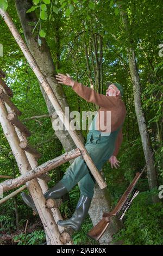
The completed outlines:
{"type": "MultiPolygon", "coordinates": [[[[102,132],[105,132],[101,129],[101,127],[106,126],[106,111],[111,111],[111,132],[118,129],[118,127],[124,122],[126,117],[126,107],[124,102],[122,101],[121,96],[105,96],[103,94],[99,94],[95,92],[95,90],[83,86],[82,83],[74,82],[73,90],[83,99],[88,102],[95,103],[100,108],[97,114],[96,120],[96,129],[102,132]],[[103,111],[104,119],[100,118],[100,113],[103,111]],[[99,120],[101,123],[99,123],[99,120]],[[104,123],[102,123],[104,122],[104,123]]],[[[107,126],[106,126],[107,127],[107,126]]],[[[123,140],[122,129],[118,132],[118,136],[116,139],[116,147],[113,155],[116,156],[118,151],[120,150],[120,146],[123,140]]]]}

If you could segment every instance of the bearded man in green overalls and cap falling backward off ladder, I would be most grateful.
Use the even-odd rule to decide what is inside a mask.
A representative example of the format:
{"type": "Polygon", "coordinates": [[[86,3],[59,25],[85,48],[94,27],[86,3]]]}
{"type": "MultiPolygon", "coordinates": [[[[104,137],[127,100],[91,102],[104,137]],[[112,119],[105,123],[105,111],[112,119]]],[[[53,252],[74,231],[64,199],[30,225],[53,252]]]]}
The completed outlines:
{"type": "MultiPolygon", "coordinates": [[[[106,95],[99,94],[95,90],[83,86],[67,75],[56,75],[58,83],[71,86],[74,92],[88,102],[98,105],[99,111],[93,119],[91,129],[87,134],[86,150],[89,152],[92,161],[100,171],[106,161],[109,160],[111,168],[117,168],[120,161],[116,156],[122,143],[122,125],[126,117],[126,107],[122,101],[123,88],[121,84],[106,82],[106,95]],[[107,122],[107,113],[111,112],[111,122],[107,122]],[[102,113],[104,118],[102,119],[102,113]],[[108,126],[111,130],[108,132],[108,126]],[[102,129],[105,127],[105,130],[102,129]]],[[[76,184],[79,185],[80,198],[73,216],[66,221],[59,220],[57,224],[62,227],[70,226],[75,231],[80,229],[87,212],[89,211],[91,200],[94,193],[95,179],[82,156],[77,157],[70,167],[67,168],[63,178],[48,190],[44,196],[48,198],[60,198],[70,191],[76,184]]],[[[36,208],[32,198],[22,193],[22,198],[27,205],[36,208]]]]}

